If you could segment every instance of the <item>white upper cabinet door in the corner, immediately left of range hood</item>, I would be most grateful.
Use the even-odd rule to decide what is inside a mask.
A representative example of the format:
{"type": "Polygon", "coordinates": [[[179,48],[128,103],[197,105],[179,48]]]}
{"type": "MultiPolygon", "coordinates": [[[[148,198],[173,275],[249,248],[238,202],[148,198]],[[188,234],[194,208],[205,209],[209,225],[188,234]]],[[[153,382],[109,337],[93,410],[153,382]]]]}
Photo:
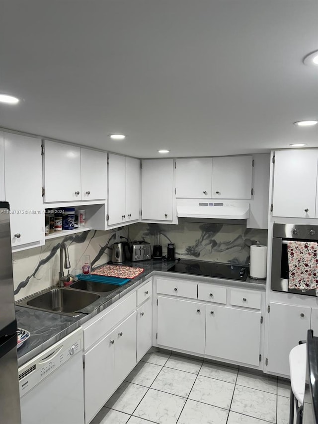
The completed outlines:
{"type": "Polygon", "coordinates": [[[142,169],[142,219],[172,221],[173,159],[149,159],[142,169]]]}

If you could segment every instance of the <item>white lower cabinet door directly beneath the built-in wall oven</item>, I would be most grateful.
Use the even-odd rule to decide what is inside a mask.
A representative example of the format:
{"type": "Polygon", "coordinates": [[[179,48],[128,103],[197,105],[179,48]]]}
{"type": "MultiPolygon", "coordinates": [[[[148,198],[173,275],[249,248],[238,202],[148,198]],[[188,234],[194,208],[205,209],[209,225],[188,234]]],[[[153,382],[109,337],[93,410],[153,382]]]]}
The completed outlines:
{"type": "Polygon", "coordinates": [[[306,340],[310,329],[311,308],[270,303],[267,369],[289,375],[289,352],[299,340],[306,340]]]}

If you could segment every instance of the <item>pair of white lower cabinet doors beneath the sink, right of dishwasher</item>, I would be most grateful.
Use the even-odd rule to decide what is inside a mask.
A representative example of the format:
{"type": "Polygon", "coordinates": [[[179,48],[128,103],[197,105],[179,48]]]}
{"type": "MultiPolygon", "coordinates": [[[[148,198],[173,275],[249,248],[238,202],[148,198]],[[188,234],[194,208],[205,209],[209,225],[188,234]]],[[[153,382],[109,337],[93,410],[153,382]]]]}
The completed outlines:
{"type": "Polygon", "coordinates": [[[84,353],[85,424],[136,365],[136,311],[84,353]]]}

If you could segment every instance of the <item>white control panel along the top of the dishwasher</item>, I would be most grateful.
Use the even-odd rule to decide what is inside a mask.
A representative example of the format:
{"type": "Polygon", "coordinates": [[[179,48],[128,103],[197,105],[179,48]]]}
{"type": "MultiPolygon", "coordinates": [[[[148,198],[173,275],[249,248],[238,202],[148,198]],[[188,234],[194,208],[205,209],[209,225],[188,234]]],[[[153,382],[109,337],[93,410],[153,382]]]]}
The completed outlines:
{"type": "Polygon", "coordinates": [[[20,398],[72,356],[81,352],[82,345],[80,328],[21,366],[18,370],[20,398]]]}

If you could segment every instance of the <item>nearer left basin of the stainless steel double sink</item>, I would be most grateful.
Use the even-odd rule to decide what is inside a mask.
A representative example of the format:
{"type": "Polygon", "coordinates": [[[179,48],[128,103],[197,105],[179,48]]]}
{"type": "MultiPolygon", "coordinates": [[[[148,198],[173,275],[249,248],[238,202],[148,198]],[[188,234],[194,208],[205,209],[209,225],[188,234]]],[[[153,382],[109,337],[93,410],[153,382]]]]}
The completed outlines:
{"type": "Polygon", "coordinates": [[[54,287],[29,296],[17,305],[74,317],[99,298],[97,293],[54,287]]]}

